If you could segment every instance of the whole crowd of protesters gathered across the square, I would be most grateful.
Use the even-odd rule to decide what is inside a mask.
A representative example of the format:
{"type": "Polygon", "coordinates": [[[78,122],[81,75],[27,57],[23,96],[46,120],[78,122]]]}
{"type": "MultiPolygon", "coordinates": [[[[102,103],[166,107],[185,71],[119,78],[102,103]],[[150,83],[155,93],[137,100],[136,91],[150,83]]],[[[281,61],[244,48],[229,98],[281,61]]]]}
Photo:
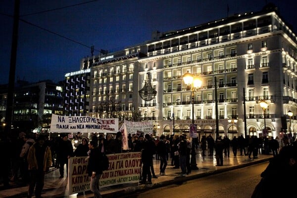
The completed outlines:
{"type": "MultiPolygon", "coordinates": [[[[99,182],[102,169],[100,160],[102,154],[121,152],[141,152],[141,176],[140,184],[151,184],[152,178],[157,178],[153,168],[153,158],[160,160],[159,175],[166,175],[166,167],[171,164],[172,168],[180,169],[180,176],[191,174],[191,156],[195,149],[201,149],[201,156],[214,156],[217,166],[223,165],[223,158],[230,157],[230,147],[233,156],[245,155],[248,158],[257,158],[258,153],[273,154],[278,156],[280,149],[288,146],[297,146],[296,140],[288,140],[284,136],[279,137],[257,137],[243,135],[233,137],[216,137],[211,134],[203,135],[201,140],[193,139],[183,135],[161,135],[153,137],[149,134],[129,134],[128,147],[123,150],[123,134],[91,134],[90,137],[77,133],[72,142],[68,134],[59,134],[53,138],[44,135],[18,133],[17,136],[1,136],[0,147],[9,149],[4,153],[5,160],[1,168],[4,188],[9,188],[9,182],[20,181],[22,185],[28,185],[28,197],[31,198],[35,188],[36,198],[41,196],[44,186],[44,174],[49,167],[59,169],[60,179],[68,176],[68,159],[71,156],[89,156],[88,170],[91,177],[91,191],[95,197],[100,197],[99,182]],[[215,151],[215,152],[214,152],[215,151]],[[96,153],[96,154],[94,154],[96,153]],[[170,161],[169,161],[170,160],[170,161]],[[170,163],[169,163],[170,162],[170,163]],[[64,168],[66,165],[66,174],[64,168]]],[[[0,148],[0,149],[1,149],[0,148]]],[[[231,154],[232,154],[231,153],[231,154]]],[[[195,152],[196,154],[196,152],[195,152]]],[[[196,160],[195,160],[196,162],[196,160]]],[[[194,162],[194,163],[195,163],[194,162]]],[[[194,167],[197,164],[194,164],[194,167]]]]}

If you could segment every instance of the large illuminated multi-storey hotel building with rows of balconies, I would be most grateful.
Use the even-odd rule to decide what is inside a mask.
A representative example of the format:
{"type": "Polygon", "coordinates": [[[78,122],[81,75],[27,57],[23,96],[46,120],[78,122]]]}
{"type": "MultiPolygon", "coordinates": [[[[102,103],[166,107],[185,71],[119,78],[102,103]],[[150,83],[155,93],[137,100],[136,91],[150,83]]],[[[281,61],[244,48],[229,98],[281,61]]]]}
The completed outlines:
{"type": "Polygon", "coordinates": [[[282,129],[297,133],[297,38],[271,4],[258,12],[154,32],[141,45],[84,58],[81,69],[87,68],[92,116],[113,116],[106,114],[106,105],[127,120],[139,110],[142,120],[153,121],[155,135],[161,135],[172,134],[174,113],[175,133],[189,132],[192,92],[182,78],[189,71],[202,80],[194,93],[199,134],[215,137],[215,100],[222,136],[261,136],[265,127],[274,137],[282,129]],[[148,73],[157,94],[146,102],[138,91],[148,73]],[[268,104],[265,111],[260,101],[268,104]]]}

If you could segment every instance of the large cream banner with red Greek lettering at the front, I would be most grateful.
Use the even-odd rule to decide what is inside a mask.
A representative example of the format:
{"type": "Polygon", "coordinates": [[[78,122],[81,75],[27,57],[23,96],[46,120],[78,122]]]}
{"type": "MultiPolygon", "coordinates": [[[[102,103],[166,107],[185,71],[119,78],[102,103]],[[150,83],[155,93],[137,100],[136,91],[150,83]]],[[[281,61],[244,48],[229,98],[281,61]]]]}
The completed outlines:
{"type": "MultiPolygon", "coordinates": [[[[100,188],[136,183],[140,180],[141,152],[108,154],[109,169],[99,179],[100,188]]],[[[88,157],[70,157],[68,174],[68,195],[90,190],[88,157]]]]}

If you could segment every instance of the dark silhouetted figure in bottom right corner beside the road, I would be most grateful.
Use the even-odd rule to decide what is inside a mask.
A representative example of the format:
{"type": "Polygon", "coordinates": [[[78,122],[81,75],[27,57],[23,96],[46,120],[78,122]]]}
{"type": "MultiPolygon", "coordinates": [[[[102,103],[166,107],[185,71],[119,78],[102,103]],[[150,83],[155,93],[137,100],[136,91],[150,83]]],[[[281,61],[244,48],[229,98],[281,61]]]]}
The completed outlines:
{"type": "MultiPolygon", "coordinates": [[[[261,173],[261,198],[293,198],[296,197],[297,178],[297,148],[283,147],[279,154],[273,157],[266,169],[261,173]],[[277,184],[277,188],[275,185],[277,184]]],[[[254,197],[254,195],[251,196],[254,197]]]]}

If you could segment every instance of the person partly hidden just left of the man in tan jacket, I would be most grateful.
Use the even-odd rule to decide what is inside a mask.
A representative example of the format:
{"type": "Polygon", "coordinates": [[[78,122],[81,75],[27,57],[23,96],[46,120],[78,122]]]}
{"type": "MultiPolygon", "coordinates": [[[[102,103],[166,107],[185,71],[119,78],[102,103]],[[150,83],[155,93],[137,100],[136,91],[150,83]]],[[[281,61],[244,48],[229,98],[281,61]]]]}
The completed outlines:
{"type": "Polygon", "coordinates": [[[35,141],[30,138],[28,134],[24,137],[25,144],[22,147],[20,153],[20,174],[22,178],[22,183],[25,185],[29,182],[29,170],[28,170],[28,152],[30,147],[35,143],[35,141]]]}

